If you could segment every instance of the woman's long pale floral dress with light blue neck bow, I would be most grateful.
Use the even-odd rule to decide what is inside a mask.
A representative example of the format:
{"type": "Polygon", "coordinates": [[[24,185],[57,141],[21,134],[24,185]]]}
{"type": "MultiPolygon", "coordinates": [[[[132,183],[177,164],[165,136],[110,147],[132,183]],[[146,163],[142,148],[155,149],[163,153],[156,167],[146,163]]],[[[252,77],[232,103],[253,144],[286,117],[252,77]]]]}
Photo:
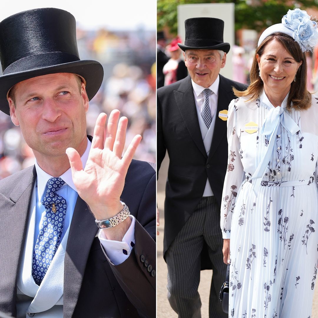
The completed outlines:
{"type": "Polygon", "coordinates": [[[287,97],[273,107],[264,91],[246,100],[232,100],[228,111],[221,229],[231,238],[229,317],[308,318],[318,259],[318,98],[306,111],[288,111],[287,97]]]}

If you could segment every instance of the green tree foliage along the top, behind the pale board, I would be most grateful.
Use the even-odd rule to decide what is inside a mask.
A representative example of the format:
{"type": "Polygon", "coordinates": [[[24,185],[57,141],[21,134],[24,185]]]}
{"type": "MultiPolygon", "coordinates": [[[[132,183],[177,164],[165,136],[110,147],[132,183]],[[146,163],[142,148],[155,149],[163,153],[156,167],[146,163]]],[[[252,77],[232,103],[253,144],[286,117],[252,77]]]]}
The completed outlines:
{"type": "Polygon", "coordinates": [[[157,28],[168,27],[170,33],[177,34],[177,6],[190,3],[235,3],[235,30],[242,28],[258,32],[268,26],[280,23],[288,9],[299,7],[318,8],[318,0],[158,0],[157,28]],[[288,3],[288,4],[287,4],[288,3]]]}

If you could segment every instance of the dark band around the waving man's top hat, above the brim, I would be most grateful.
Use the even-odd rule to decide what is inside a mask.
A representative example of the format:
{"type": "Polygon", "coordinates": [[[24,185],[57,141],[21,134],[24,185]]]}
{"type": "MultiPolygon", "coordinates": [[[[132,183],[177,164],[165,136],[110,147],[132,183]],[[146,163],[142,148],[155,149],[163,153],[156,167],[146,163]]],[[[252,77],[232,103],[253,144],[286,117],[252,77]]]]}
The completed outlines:
{"type": "Polygon", "coordinates": [[[25,72],[38,68],[60,65],[75,61],[79,61],[79,57],[66,52],[47,52],[35,54],[26,56],[13,62],[3,71],[3,75],[25,72]]]}

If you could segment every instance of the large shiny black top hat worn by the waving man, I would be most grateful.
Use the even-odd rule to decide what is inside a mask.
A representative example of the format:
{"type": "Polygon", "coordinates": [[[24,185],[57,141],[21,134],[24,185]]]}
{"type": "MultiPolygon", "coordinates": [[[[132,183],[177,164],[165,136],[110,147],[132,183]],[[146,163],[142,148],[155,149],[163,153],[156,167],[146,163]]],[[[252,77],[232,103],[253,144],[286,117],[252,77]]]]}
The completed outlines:
{"type": "Polygon", "coordinates": [[[76,22],[65,10],[41,8],[23,11],[0,22],[0,110],[10,114],[6,99],[12,86],[25,79],[51,74],[75,73],[86,80],[89,99],[103,80],[97,61],[80,60],[76,22]]]}

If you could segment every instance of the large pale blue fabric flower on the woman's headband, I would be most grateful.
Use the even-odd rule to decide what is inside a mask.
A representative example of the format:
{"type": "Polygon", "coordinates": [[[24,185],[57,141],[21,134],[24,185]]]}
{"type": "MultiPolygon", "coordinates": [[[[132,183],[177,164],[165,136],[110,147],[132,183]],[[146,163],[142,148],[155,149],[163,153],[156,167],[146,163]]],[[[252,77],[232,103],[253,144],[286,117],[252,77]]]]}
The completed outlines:
{"type": "Polygon", "coordinates": [[[293,38],[300,45],[302,52],[313,50],[318,40],[317,23],[310,20],[305,10],[288,10],[281,22],[293,31],[293,38]]]}

